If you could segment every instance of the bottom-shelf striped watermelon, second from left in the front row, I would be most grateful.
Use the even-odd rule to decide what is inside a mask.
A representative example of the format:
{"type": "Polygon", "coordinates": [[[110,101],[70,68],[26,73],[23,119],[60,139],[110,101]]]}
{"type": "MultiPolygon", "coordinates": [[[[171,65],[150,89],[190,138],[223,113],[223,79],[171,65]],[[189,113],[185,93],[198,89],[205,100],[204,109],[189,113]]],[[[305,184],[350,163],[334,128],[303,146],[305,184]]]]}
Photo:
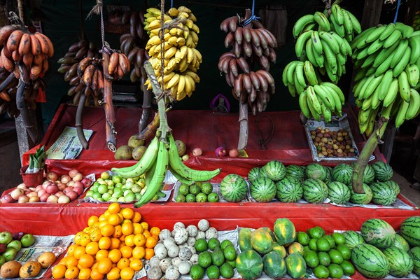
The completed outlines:
{"type": "Polygon", "coordinates": [[[396,247],[386,248],[384,251],[389,262],[389,274],[395,277],[405,277],[413,271],[414,263],[409,254],[396,247]]]}

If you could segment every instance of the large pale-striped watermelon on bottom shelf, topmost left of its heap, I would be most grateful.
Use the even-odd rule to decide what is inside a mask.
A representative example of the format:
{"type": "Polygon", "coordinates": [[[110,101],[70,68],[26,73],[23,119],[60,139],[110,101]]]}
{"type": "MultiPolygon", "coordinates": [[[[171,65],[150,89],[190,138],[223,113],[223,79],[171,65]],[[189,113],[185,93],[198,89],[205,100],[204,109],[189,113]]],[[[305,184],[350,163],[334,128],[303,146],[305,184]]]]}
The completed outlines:
{"type": "Polygon", "coordinates": [[[378,218],[365,221],[360,231],[367,244],[378,248],[388,248],[395,239],[395,230],[392,226],[378,218]]]}

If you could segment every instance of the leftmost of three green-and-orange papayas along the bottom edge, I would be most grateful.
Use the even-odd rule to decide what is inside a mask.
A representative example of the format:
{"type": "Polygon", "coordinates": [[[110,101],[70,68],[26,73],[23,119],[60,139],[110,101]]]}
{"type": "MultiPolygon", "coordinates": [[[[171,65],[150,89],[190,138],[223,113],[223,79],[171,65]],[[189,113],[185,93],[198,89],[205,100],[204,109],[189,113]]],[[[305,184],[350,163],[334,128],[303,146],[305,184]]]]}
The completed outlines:
{"type": "Polygon", "coordinates": [[[261,256],[251,249],[237,256],[236,269],[243,279],[257,279],[261,276],[263,267],[261,256]]]}

